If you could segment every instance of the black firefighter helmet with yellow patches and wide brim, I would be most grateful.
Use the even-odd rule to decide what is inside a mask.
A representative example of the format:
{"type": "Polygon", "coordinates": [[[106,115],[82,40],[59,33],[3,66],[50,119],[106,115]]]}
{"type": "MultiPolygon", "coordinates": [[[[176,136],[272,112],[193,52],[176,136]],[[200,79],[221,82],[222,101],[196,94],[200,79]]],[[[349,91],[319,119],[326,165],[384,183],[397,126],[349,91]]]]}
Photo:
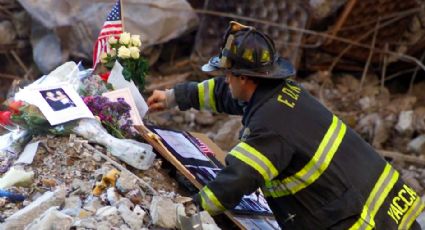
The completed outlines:
{"type": "Polygon", "coordinates": [[[295,75],[294,66],[276,53],[269,36],[234,21],[224,35],[221,53],[202,66],[202,71],[211,75],[223,75],[226,70],[235,75],[269,79],[295,75]]]}

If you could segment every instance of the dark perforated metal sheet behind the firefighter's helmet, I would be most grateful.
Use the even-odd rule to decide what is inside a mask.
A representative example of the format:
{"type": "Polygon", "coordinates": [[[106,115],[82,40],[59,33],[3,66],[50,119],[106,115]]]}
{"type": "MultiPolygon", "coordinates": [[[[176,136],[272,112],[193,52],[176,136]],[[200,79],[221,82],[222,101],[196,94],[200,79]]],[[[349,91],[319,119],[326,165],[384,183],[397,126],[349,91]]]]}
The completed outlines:
{"type": "MultiPolygon", "coordinates": [[[[281,25],[297,28],[306,28],[309,13],[302,1],[291,0],[247,0],[206,1],[204,9],[221,13],[236,14],[238,16],[251,17],[253,19],[267,20],[281,25]]],[[[192,60],[198,64],[205,63],[208,59],[219,52],[222,36],[230,20],[236,20],[246,25],[254,26],[258,30],[268,34],[275,42],[276,49],[282,57],[289,59],[293,64],[298,63],[301,55],[299,48],[303,34],[281,27],[270,26],[262,23],[253,23],[245,20],[237,20],[228,17],[203,15],[197,39],[192,53],[192,60]]]]}

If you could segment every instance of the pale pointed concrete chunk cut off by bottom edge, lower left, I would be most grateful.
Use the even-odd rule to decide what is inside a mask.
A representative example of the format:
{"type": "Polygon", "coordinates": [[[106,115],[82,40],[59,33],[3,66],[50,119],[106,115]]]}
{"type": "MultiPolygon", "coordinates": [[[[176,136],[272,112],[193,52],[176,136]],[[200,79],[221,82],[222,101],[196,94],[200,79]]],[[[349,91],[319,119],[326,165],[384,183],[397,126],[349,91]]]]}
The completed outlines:
{"type": "Polygon", "coordinates": [[[68,230],[73,222],[72,217],[58,211],[59,207],[51,207],[38,219],[25,227],[25,230],[68,230]]]}

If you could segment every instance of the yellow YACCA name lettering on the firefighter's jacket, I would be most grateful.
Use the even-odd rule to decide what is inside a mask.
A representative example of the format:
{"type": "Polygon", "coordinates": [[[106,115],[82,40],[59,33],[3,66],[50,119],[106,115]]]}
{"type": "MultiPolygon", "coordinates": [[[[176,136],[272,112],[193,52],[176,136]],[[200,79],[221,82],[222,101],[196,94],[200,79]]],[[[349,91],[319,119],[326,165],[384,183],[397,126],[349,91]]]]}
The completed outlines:
{"type": "Polygon", "coordinates": [[[403,185],[403,188],[398,191],[397,196],[391,201],[387,214],[398,224],[416,199],[418,199],[416,192],[409,186],[403,185]]]}

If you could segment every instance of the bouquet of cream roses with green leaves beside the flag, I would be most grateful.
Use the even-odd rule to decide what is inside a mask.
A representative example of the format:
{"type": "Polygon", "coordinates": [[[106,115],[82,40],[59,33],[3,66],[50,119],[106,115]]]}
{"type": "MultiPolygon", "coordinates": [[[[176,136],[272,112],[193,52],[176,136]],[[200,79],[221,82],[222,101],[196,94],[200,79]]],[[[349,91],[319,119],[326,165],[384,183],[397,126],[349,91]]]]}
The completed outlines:
{"type": "MultiPolygon", "coordinates": [[[[140,91],[145,87],[145,77],[149,69],[148,61],[140,56],[140,35],[122,33],[117,39],[111,36],[108,40],[109,51],[102,53],[100,62],[111,70],[118,61],[123,67],[122,74],[127,81],[133,80],[140,91]]],[[[106,77],[103,77],[104,79],[106,77]]]]}

